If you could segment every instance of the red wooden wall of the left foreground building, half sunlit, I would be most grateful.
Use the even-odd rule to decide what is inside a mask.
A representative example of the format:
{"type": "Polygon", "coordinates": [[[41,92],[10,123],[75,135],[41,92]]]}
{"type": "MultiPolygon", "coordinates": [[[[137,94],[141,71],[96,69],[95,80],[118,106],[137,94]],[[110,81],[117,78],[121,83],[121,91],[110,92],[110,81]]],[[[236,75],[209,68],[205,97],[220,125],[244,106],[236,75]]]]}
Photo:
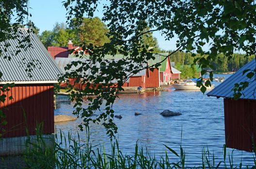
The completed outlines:
{"type": "Polygon", "coordinates": [[[0,104],[8,122],[3,127],[3,137],[26,136],[26,121],[30,135],[35,135],[35,127],[43,123],[43,134],[54,133],[54,98],[52,84],[18,85],[8,91],[7,99],[0,104]],[[8,99],[10,96],[13,99],[8,99]],[[26,118],[24,117],[24,113],[26,118]]]}

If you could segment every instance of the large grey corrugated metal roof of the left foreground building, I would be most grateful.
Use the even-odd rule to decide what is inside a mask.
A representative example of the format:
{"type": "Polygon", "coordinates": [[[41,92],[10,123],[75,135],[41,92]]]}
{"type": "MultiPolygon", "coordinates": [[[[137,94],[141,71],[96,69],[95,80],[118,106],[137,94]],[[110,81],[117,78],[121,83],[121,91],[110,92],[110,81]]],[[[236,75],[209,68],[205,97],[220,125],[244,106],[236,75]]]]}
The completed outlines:
{"type": "Polygon", "coordinates": [[[58,75],[61,74],[58,66],[48,54],[48,51],[33,33],[30,34],[31,47],[27,50],[19,47],[19,41],[23,40],[23,37],[28,35],[26,30],[20,30],[18,33],[19,38],[14,40],[7,40],[10,46],[5,52],[4,44],[5,42],[0,42],[0,49],[2,50],[2,55],[0,56],[0,71],[3,73],[0,83],[15,82],[16,84],[22,83],[33,83],[38,81],[56,81],[58,75]],[[19,47],[19,48],[18,48],[19,47]],[[20,52],[16,55],[16,51],[20,52]],[[11,60],[4,57],[11,57],[11,60]],[[28,76],[26,72],[27,64],[35,60],[34,64],[38,64],[35,68],[32,68],[31,75],[28,76]]]}

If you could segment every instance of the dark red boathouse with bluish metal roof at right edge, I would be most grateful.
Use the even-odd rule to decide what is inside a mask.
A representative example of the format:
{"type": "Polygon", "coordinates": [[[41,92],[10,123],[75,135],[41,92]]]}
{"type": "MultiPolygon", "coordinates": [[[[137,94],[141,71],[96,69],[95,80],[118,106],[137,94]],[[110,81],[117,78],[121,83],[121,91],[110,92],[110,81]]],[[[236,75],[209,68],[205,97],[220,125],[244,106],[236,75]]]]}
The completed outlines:
{"type": "Polygon", "coordinates": [[[253,151],[256,143],[256,81],[246,77],[244,70],[255,70],[256,60],[247,63],[235,74],[219,84],[207,95],[224,98],[225,142],[229,148],[253,151]],[[250,81],[240,99],[234,100],[232,91],[235,84],[250,81]]]}

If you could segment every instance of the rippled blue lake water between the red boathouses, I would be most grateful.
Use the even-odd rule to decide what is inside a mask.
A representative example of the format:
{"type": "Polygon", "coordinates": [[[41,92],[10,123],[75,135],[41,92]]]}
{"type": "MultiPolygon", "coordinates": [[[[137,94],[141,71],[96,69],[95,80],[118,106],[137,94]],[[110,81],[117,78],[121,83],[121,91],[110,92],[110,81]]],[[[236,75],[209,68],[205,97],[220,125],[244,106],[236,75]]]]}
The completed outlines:
{"type": "MultiPolygon", "coordinates": [[[[215,75],[215,77],[230,76],[215,75]]],[[[213,82],[218,85],[220,83],[213,82]]],[[[224,103],[223,99],[208,97],[200,91],[174,90],[145,92],[143,94],[121,94],[114,103],[115,114],[121,114],[122,119],[116,119],[118,127],[117,139],[123,154],[132,155],[136,141],[146,145],[152,154],[163,155],[166,148],[163,144],[179,152],[179,144],[186,153],[186,161],[190,166],[201,164],[202,150],[208,148],[218,158],[216,163],[223,160],[224,136],[224,103]],[[162,117],[163,110],[182,113],[180,116],[162,117]],[[139,112],[142,115],[135,116],[139,112]],[[181,135],[182,134],[182,135],[181,135]]],[[[74,103],[59,102],[55,114],[71,115],[74,103]]],[[[86,106],[86,104],[85,104],[86,106]]],[[[56,132],[62,129],[64,133],[72,131],[75,134],[81,119],[56,125],[56,132]]],[[[80,138],[86,140],[86,132],[78,131],[80,138]]],[[[90,141],[92,144],[104,145],[110,149],[110,140],[101,125],[90,127],[90,141]]],[[[231,154],[232,149],[228,149],[231,154]]],[[[239,165],[253,164],[253,154],[234,150],[234,163],[239,165]]],[[[174,157],[174,156],[172,156],[174,157]]],[[[176,159],[173,159],[176,162],[176,159]]]]}

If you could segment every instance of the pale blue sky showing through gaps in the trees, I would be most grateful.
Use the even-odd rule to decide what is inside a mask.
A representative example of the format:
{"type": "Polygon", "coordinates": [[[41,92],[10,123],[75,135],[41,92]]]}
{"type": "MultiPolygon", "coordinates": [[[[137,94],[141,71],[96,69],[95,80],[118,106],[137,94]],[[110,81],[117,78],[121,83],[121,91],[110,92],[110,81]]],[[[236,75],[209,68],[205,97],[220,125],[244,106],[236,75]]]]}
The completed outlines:
{"type": "MultiPolygon", "coordinates": [[[[31,20],[40,29],[40,33],[44,30],[52,30],[56,22],[66,21],[66,10],[62,1],[64,0],[30,0],[31,20]]],[[[98,12],[96,12],[95,16],[102,18],[102,10],[103,8],[99,5],[98,12]]],[[[171,41],[165,41],[160,32],[154,32],[153,36],[158,39],[161,49],[176,49],[176,38],[171,41]]]]}

